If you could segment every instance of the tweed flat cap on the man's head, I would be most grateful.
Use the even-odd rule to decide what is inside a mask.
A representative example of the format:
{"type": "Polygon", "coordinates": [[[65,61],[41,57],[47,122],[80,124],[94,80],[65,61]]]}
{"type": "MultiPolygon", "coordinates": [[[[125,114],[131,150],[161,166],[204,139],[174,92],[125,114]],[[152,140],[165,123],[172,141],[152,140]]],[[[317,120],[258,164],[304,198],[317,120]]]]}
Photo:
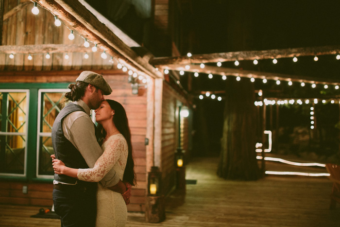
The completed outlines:
{"type": "Polygon", "coordinates": [[[83,81],[87,84],[96,86],[104,92],[104,95],[109,95],[112,92],[111,87],[102,77],[102,75],[95,72],[83,71],[80,73],[76,81],[83,81]]]}

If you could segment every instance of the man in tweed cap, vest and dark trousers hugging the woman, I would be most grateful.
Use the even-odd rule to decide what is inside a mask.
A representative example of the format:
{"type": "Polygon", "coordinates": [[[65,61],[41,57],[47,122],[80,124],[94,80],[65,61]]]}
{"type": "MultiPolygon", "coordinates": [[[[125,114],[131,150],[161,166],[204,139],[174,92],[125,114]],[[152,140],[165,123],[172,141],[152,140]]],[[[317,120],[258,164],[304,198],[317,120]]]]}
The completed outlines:
{"type": "MultiPolygon", "coordinates": [[[[112,92],[102,75],[83,71],[70,84],[65,97],[73,101],[66,105],[56,117],[52,127],[52,144],[55,157],[71,168],[93,168],[102,155],[97,142],[95,125],[90,110],[97,109],[104,100],[103,95],[112,92]]],[[[53,156],[51,156],[53,158],[53,156]]],[[[111,170],[101,181],[104,187],[123,193],[129,203],[131,185],[125,185],[111,170]]],[[[96,222],[97,183],[54,174],[53,205],[61,217],[62,227],[94,227],[96,222]]]]}

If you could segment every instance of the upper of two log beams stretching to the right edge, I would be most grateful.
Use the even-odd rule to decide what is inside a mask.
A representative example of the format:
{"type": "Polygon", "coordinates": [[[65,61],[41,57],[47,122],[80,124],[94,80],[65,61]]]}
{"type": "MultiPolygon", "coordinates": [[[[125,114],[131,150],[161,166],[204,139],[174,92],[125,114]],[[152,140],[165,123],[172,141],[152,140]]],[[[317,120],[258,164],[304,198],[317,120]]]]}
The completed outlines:
{"type": "Polygon", "coordinates": [[[314,56],[325,54],[340,53],[340,46],[323,46],[323,47],[303,47],[289,48],[281,50],[265,51],[238,51],[209,54],[194,54],[191,57],[155,57],[150,60],[150,64],[155,67],[172,65],[172,64],[201,64],[209,62],[241,61],[241,60],[260,60],[260,59],[278,59],[286,57],[314,56]]]}

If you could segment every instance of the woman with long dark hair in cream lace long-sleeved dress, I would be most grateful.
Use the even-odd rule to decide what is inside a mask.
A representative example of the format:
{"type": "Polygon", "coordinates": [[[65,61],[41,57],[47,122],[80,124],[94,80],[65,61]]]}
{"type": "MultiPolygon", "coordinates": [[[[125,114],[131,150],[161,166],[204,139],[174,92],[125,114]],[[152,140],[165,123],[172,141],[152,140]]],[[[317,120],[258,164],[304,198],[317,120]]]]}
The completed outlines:
{"type": "MultiPolygon", "coordinates": [[[[98,182],[114,168],[121,180],[136,185],[131,132],[124,107],[114,100],[104,100],[95,113],[96,122],[100,124],[98,128],[101,133],[102,156],[92,169],[72,169],[54,159],[54,173],[98,182]]],[[[122,195],[98,184],[96,226],[120,227],[125,226],[126,220],[127,208],[122,195]]]]}

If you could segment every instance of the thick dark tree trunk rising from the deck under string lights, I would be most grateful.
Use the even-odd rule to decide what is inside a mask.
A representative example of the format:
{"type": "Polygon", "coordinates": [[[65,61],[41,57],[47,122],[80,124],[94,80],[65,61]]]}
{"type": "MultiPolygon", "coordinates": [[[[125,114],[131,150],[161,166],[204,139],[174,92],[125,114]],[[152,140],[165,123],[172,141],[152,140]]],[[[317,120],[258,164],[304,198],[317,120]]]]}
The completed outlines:
{"type": "Polygon", "coordinates": [[[228,78],[218,175],[226,179],[260,178],[255,152],[256,108],[254,84],[228,78]]]}

